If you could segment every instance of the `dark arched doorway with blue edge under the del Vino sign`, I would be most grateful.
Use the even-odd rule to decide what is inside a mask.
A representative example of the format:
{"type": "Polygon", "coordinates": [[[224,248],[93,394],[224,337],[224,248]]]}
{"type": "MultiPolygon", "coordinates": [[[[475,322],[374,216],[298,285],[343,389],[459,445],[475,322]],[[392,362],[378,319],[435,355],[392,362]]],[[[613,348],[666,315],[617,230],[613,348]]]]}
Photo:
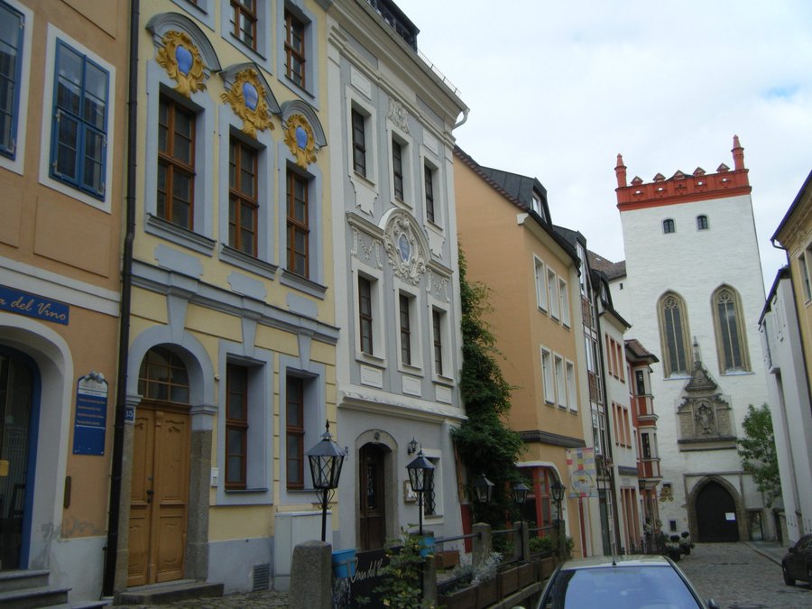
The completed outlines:
{"type": "Polygon", "coordinates": [[[0,350],[0,564],[28,566],[38,420],[37,369],[0,350]]]}

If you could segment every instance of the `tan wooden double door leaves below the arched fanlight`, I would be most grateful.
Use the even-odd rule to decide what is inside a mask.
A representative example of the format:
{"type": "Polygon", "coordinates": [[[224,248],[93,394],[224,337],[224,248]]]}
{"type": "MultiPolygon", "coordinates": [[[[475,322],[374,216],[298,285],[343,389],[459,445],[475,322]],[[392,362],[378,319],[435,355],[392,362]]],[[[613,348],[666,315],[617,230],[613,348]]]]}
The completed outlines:
{"type": "Polygon", "coordinates": [[[142,403],[135,416],[128,586],[183,577],[189,412],[142,403]]]}

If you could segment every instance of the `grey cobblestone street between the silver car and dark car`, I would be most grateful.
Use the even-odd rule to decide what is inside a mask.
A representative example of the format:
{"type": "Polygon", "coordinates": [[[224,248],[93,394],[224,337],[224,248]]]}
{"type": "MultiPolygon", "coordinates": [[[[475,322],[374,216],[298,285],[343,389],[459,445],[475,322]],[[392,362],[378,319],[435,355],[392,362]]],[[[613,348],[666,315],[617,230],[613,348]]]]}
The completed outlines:
{"type": "Polygon", "coordinates": [[[807,584],[785,586],[775,544],[697,543],[678,565],[703,598],[722,609],[800,609],[812,607],[807,584]]]}

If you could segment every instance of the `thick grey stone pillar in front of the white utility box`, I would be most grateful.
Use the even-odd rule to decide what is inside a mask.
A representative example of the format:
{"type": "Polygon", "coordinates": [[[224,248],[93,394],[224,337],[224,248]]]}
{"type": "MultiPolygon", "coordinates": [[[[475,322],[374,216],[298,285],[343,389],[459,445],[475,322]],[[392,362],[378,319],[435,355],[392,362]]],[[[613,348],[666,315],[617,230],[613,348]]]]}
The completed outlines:
{"type": "Polygon", "coordinates": [[[332,546],[324,541],[300,543],[293,549],[291,609],[330,609],[333,597],[332,546]]]}

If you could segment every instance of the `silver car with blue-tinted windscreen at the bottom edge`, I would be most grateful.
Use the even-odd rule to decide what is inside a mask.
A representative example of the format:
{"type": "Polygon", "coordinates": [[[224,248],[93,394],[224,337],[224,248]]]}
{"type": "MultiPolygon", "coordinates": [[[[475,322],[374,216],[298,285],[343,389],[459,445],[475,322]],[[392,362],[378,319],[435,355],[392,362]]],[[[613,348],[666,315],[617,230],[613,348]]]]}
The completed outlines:
{"type": "Polygon", "coordinates": [[[567,560],[547,582],[537,609],[712,609],[664,556],[567,560]]]}

